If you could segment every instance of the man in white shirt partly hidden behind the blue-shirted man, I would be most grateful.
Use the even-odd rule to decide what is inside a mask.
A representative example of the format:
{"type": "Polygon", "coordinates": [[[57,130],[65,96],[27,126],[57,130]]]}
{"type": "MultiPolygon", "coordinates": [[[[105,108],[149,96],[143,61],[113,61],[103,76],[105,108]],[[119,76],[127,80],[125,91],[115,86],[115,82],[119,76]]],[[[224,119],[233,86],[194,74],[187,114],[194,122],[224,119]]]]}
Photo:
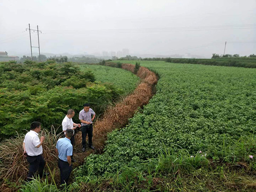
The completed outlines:
{"type": "MultiPolygon", "coordinates": [[[[62,121],[62,130],[63,130],[64,134],[66,134],[67,129],[73,130],[73,136],[70,138],[72,146],[74,146],[74,142],[75,142],[75,137],[74,137],[75,129],[77,127],[81,127],[80,124],[76,124],[73,122],[73,120],[72,120],[73,116],[75,116],[75,111],[73,109],[69,109],[67,111],[67,115],[65,116],[65,118],[62,121]]],[[[71,156],[71,160],[72,160],[72,162],[75,162],[75,160],[73,159],[73,155],[71,156]]]]}

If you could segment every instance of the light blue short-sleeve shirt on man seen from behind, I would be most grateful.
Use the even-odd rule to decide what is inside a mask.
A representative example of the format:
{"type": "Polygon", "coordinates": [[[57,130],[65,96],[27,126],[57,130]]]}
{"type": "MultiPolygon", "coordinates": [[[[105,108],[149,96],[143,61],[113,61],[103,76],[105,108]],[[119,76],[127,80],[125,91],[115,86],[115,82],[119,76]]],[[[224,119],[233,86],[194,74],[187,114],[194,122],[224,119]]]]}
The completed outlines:
{"type": "Polygon", "coordinates": [[[71,141],[65,137],[57,141],[56,148],[58,150],[58,157],[60,160],[67,161],[67,156],[73,154],[73,146],[71,141]]]}

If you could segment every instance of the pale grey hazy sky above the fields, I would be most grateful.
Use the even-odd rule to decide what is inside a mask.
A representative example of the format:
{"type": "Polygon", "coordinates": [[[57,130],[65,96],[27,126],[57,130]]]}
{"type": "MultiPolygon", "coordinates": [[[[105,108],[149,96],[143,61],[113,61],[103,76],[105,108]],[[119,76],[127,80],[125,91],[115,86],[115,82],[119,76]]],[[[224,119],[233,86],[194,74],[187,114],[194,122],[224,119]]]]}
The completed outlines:
{"type": "Polygon", "coordinates": [[[55,54],[256,54],[256,0],[0,0],[0,51],[30,53],[28,23],[55,54]]]}

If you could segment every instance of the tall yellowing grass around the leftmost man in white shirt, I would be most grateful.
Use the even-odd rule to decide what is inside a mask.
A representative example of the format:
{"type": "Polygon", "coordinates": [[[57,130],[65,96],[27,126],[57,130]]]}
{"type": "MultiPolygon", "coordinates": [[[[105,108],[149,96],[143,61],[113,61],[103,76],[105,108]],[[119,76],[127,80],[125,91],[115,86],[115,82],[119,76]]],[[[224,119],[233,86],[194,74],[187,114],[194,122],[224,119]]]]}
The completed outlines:
{"type": "MultiPolygon", "coordinates": [[[[55,155],[55,145],[62,133],[57,134],[58,128],[52,126],[51,131],[43,129],[40,136],[45,137],[43,144],[43,156],[50,168],[57,166],[55,155]]],[[[3,140],[0,145],[0,186],[2,189],[8,188],[6,183],[12,182],[19,185],[28,173],[29,163],[23,157],[22,143],[25,135],[18,134],[17,137],[3,140]]],[[[1,189],[0,188],[0,189],[1,189]]]]}

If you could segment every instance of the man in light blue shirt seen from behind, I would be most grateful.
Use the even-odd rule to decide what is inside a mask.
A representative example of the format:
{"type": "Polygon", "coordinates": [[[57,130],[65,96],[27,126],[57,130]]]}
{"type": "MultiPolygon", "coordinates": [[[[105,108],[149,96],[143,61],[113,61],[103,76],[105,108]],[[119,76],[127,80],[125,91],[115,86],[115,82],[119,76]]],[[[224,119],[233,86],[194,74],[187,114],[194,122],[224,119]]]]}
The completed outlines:
{"type": "Polygon", "coordinates": [[[66,129],[65,138],[57,141],[55,152],[58,155],[58,167],[61,172],[61,184],[67,184],[72,171],[71,156],[73,154],[73,146],[71,144],[71,137],[73,137],[73,130],[66,129]]]}

